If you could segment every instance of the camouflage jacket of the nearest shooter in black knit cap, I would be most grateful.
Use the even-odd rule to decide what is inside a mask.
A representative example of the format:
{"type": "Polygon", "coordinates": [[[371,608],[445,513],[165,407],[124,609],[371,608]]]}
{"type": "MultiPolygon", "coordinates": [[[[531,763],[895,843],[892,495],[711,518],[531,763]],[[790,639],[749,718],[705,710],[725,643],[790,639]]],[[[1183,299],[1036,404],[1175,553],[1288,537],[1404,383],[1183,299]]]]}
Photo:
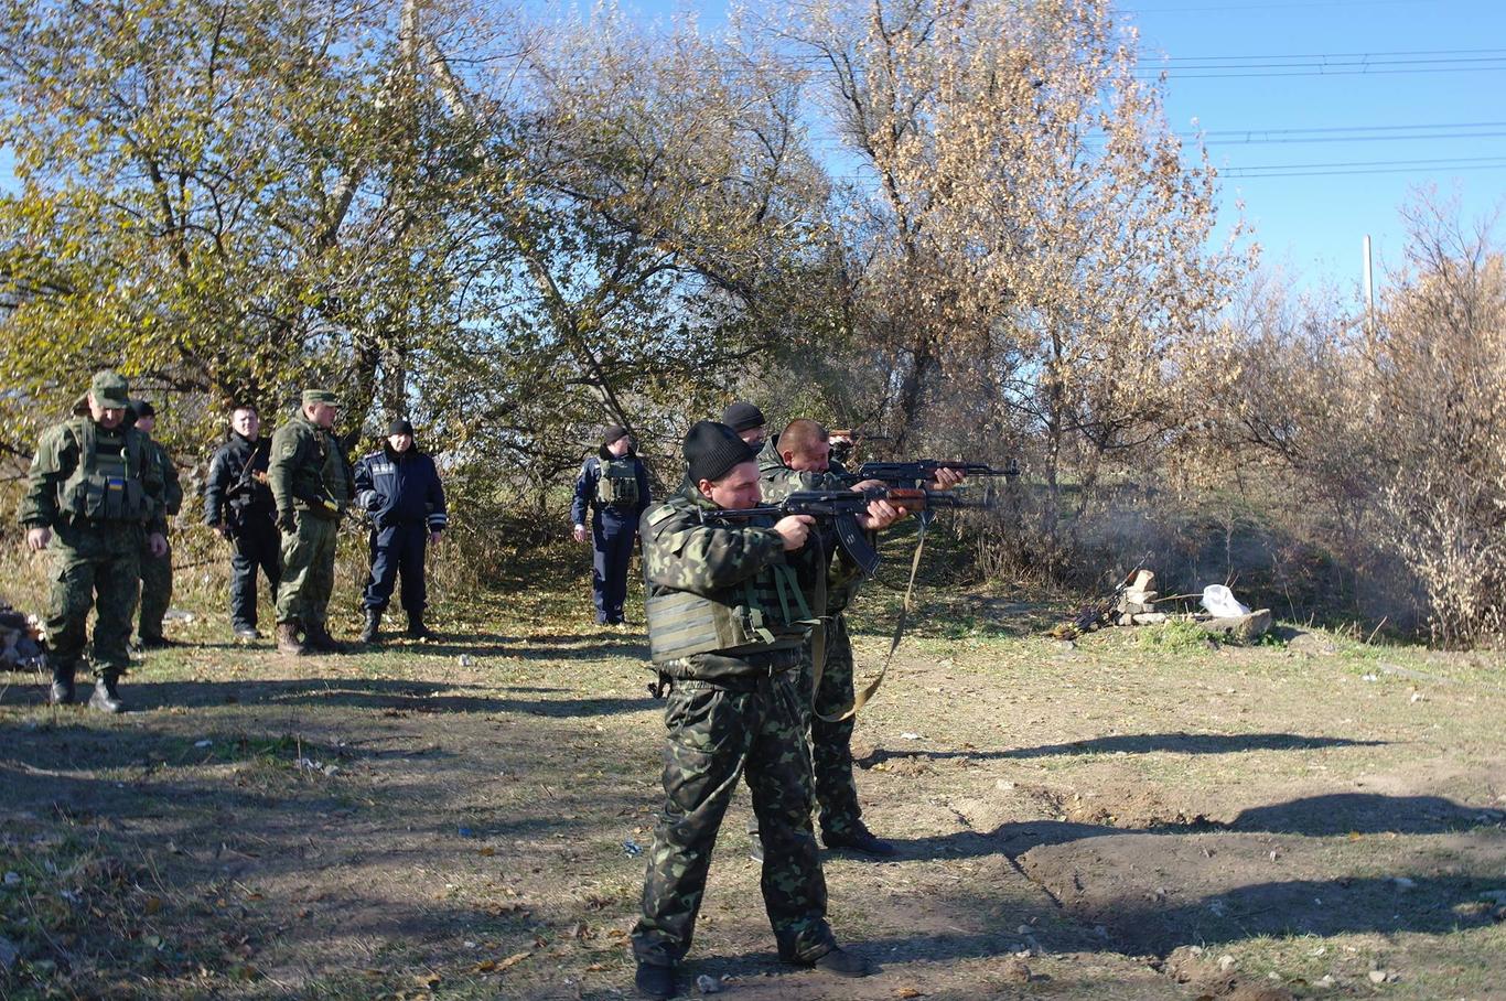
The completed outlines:
{"type": "MultiPolygon", "coordinates": [[[[801,620],[809,608],[800,608],[800,587],[789,570],[798,574],[807,567],[810,549],[786,552],[768,519],[703,522],[700,512],[712,509],[714,504],[687,480],[663,504],[643,512],[639,531],[648,599],[688,592],[721,605],[739,622],[751,614],[765,635],[762,641],[735,649],[663,662],[660,670],[673,677],[712,682],[767,674],[768,655],[792,653],[804,644],[807,626],[801,620]]],[[[651,610],[649,629],[655,628],[651,610]]],[[[795,658],[776,659],[788,659],[785,667],[795,662],[795,658]]]]}

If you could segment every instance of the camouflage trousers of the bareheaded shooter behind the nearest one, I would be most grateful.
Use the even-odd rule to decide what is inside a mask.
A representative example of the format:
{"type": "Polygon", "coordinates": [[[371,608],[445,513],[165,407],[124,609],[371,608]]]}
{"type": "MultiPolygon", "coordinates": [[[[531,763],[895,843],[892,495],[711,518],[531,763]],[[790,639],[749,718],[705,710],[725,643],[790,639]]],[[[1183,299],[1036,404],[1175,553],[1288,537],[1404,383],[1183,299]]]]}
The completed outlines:
{"type": "MultiPolygon", "coordinates": [[[[813,667],[807,646],[800,665],[800,688],[809,695],[804,704],[825,717],[846,712],[852,706],[852,640],[846,616],[839,613],[830,619],[821,689],[812,695],[813,667]]],[[[821,832],[851,834],[863,816],[852,778],[852,718],[842,723],[827,723],[815,713],[806,718],[810,723],[810,765],[816,778],[816,802],[821,804],[821,832]]]]}

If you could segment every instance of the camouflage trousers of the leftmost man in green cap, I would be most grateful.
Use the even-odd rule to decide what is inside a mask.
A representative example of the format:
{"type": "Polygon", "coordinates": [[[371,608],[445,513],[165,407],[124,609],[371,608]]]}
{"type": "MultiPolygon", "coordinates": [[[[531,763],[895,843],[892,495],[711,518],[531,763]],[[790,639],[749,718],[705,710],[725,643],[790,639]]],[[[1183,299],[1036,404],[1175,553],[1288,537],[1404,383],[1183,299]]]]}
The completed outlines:
{"type": "Polygon", "coordinates": [[[142,587],[145,534],[139,525],[63,524],[53,530],[53,593],[47,641],[57,667],[78,668],[95,610],[93,668],[120,674],[131,664],[127,643],[142,587]]]}

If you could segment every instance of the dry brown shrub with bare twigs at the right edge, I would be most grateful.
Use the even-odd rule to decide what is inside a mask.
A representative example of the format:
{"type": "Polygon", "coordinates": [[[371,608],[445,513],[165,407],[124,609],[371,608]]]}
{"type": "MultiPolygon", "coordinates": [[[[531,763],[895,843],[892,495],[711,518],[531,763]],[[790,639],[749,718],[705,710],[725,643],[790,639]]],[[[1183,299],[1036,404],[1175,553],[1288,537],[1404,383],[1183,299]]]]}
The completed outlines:
{"type": "Polygon", "coordinates": [[[1407,623],[1411,595],[1435,643],[1479,646],[1506,614],[1506,263],[1488,226],[1405,215],[1373,316],[1256,297],[1197,462],[1280,482],[1268,512],[1384,598],[1361,613],[1407,623]]]}

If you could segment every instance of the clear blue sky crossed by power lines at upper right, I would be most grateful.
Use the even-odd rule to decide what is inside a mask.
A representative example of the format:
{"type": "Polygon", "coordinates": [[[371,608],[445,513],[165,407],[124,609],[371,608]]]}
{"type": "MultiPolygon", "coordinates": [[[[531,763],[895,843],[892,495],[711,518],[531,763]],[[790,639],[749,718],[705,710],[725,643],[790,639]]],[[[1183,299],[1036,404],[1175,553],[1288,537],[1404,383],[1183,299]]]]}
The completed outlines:
{"type": "MultiPolygon", "coordinates": [[[[623,0],[651,18],[694,12],[708,29],[724,6],[623,0]]],[[[1264,265],[1301,288],[1357,291],[1366,233],[1383,283],[1402,260],[1399,209],[1422,188],[1456,199],[1470,220],[1503,205],[1501,0],[1137,0],[1117,11],[1140,33],[1142,65],[1169,74],[1172,128],[1206,134],[1221,220],[1242,205],[1264,265]]]]}

